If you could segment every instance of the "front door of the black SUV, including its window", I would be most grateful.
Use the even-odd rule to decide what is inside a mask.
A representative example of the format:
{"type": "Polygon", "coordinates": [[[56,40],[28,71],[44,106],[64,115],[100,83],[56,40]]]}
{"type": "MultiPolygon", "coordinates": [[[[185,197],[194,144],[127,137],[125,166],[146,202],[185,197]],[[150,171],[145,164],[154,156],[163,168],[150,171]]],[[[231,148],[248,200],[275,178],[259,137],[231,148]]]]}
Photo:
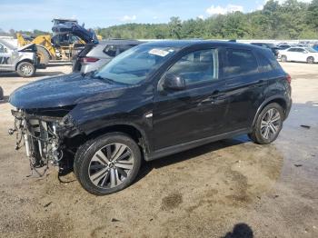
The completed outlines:
{"type": "Polygon", "coordinates": [[[154,149],[184,144],[224,132],[226,100],[219,78],[219,50],[181,56],[163,75],[184,79],[181,91],[162,89],[154,97],[154,149]]]}

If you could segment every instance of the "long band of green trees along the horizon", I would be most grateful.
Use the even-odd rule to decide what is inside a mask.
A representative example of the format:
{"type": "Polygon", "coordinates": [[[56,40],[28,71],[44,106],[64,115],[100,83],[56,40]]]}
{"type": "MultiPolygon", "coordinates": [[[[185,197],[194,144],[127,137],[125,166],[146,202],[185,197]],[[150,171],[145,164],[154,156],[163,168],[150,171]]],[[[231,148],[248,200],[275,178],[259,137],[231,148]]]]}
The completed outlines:
{"type": "Polygon", "coordinates": [[[186,21],[174,16],[168,24],[114,25],[97,29],[97,34],[138,39],[317,39],[318,0],[310,4],[270,0],[263,10],[253,13],[234,12],[186,21]]]}

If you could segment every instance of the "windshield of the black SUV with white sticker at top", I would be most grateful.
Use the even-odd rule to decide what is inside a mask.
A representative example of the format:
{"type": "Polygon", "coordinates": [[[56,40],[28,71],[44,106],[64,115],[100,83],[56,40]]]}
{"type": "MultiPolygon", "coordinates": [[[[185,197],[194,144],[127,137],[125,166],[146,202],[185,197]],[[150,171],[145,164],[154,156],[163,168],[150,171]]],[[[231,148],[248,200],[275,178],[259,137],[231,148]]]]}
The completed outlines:
{"type": "Polygon", "coordinates": [[[114,57],[93,77],[119,84],[139,84],[177,51],[173,47],[138,45],[114,57]]]}

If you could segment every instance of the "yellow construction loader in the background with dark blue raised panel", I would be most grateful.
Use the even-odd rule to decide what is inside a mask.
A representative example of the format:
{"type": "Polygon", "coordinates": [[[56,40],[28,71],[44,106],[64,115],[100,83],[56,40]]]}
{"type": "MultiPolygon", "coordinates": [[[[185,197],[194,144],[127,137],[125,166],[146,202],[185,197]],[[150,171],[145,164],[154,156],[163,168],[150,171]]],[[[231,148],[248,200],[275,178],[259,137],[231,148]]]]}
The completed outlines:
{"type": "Polygon", "coordinates": [[[76,20],[57,18],[52,21],[53,36],[38,35],[32,40],[26,40],[19,33],[16,34],[20,46],[35,44],[41,64],[48,64],[50,60],[70,61],[76,50],[86,43],[98,44],[100,39],[94,31],[86,30],[84,25],[78,25],[76,20]]]}

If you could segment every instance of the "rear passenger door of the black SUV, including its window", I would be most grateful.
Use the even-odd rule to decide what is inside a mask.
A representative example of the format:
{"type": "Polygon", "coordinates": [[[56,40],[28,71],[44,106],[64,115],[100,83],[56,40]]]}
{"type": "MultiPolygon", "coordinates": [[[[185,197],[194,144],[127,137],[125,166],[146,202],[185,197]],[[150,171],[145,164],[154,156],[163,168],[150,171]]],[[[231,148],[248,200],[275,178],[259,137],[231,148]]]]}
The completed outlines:
{"type": "Polygon", "coordinates": [[[256,102],[264,98],[266,74],[260,74],[255,54],[240,48],[224,49],[222,77],[226,94],[226,130],[228,132],[251,126],[256,102]]]}

